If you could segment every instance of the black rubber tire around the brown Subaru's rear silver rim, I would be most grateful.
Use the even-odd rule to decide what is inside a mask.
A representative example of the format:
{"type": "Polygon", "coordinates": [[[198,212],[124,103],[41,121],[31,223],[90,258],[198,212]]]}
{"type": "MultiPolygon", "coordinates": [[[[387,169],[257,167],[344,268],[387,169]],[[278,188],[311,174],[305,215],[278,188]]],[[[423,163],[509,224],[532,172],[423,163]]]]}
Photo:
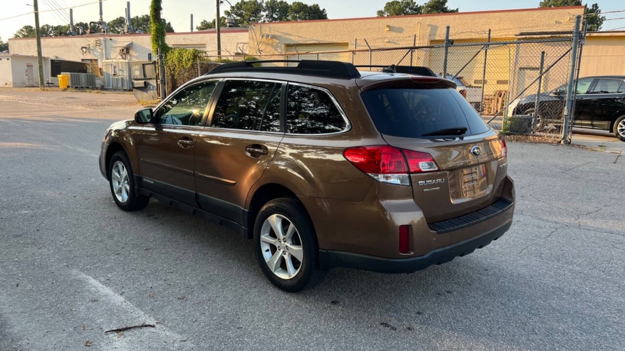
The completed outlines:
{"type": "MultiPolygon", "coordinates": [[[[267,248],[265,250],[267,250],[267,248]]],[[[319,247],[311,219],[308,217],[304,206],[296,199],[281,197],[271,200],[262,206],[256,216],[256,222],[254,222],[254,252],[256,252],[258,264],[261,266],[261,270],[267,276],[267,279],[269,279],[272,284],[276,285],[276,287],[287,292],[298,292],[309,289],[319,283],[325,274],[323,270],[319,269],[319,247]],[[299,239],[301,239],[303,259],[299,264],[299,271],[289,279],[282,279],[274,274],[274,272],[269,269],[269,265],[264,258],[261,245],[261,229],[265,220],[271,215],[286,217],[287,221],[295,225],[297,233],[299,234],[299,239]]],[[[269,251],[269,255],[274,254],[276,254],[276,251],[273,251],[273,249],[269,251]]],[[[282,264],[286,265],[286,259],[282,259],[281,265],[282,264]]]]}

